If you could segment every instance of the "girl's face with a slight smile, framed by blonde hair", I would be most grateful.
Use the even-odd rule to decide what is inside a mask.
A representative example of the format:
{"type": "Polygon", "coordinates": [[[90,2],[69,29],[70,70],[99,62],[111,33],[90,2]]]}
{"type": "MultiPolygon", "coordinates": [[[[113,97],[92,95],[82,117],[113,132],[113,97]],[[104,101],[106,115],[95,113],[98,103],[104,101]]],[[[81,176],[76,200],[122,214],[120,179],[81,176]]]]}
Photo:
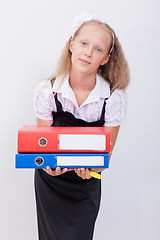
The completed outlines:
{"type": "Polygon", "coordinates": [[[101,25],[84,26],[70,43],[72,68],[81,73],[96,74],[99,66],[109,60],[110,44],[110,35],[101,25]]]}

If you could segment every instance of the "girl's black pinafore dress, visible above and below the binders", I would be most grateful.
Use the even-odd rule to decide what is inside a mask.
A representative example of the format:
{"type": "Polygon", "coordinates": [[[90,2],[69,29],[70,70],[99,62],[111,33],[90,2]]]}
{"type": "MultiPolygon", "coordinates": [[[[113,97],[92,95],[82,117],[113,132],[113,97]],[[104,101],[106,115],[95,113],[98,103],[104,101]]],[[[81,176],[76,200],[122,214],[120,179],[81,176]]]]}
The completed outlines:
{"type": "MultiPolygon", "coordinates": [[[[64,112],[55,95],[57,112],[51,126],[104,125],[106,101],[100,120],[86,122],[64,112]]],[[[35,170],[35,195],[39,240],[92,240],[100,206],[101,180],[82,179],[74,171],[51,176],[42,169],[35,170]]]]}

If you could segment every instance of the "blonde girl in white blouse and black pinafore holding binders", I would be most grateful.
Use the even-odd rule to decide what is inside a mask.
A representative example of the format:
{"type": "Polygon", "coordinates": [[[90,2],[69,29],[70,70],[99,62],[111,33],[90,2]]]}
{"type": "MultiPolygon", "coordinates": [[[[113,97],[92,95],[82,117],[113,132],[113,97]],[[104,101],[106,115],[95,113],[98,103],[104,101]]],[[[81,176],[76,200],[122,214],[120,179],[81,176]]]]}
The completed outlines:
{"type": "MultiPolygon", "coordinates": [[[[67,42],[54,78],[35,88],[37,125],[108,126],[112,151],[128,83],[128,65],[113,29],[99,20],[84,21],[67,42]]],[[[36,170],[35,192],[40,240],[93,239],[101,181],[89,169],[36,170]]]]}

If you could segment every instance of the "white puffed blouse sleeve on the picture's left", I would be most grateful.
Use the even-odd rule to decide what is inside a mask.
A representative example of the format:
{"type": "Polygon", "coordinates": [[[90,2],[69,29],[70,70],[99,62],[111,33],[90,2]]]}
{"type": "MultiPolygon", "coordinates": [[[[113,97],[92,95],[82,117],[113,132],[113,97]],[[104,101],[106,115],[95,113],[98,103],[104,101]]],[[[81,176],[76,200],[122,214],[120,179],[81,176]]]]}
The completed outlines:
{"type": "Polygon", "coordinates": [[[52,111],[56,111],[53,92],[49,80],[43,80],[33,90],[35,115],[39,119],[52,120],[52,111]]]}

